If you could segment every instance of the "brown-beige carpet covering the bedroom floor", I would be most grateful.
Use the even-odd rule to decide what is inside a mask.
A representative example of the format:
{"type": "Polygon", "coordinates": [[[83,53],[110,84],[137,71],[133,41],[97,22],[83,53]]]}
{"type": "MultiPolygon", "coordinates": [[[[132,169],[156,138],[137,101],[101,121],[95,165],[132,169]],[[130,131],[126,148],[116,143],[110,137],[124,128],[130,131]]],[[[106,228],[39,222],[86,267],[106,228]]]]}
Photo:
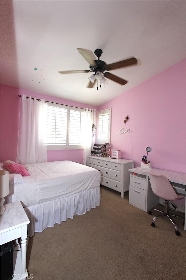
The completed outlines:
{"type": "MultiPolygon", "coordinates": [[[[156,212],[157,213],[157,212],[156,212]]],[[[185,280],[186,231],[156,220],[101,187],[101,205],[28,238],[27,270],[33,280],[185,280]]]]}

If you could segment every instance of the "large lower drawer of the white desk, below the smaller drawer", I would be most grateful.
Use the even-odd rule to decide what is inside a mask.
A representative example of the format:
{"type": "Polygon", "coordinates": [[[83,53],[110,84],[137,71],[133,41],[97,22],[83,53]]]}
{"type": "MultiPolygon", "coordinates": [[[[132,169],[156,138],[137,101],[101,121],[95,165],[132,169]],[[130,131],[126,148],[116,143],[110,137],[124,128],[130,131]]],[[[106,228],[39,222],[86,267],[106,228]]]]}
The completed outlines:
{"type": "Polygon", "coordinates": [[[146,190],[130,185],[129,204],[145,211],[146,190]]]}

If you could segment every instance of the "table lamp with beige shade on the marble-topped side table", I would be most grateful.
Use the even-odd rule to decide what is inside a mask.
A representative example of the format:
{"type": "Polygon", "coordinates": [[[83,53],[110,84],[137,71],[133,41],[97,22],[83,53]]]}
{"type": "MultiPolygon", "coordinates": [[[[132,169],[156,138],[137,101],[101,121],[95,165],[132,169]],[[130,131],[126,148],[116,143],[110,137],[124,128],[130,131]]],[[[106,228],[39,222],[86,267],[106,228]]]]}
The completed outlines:
{"type": "Polygon", "coordinates": [[[0,188],[1,188],[1,192],[0,192],[0,216],[3,215],[5,208],[3,206],[3,203],[5,202],[4,197],[6,197],[9,192],[9,174],[8,171],[6,170],[0,170],[0,188]]]}

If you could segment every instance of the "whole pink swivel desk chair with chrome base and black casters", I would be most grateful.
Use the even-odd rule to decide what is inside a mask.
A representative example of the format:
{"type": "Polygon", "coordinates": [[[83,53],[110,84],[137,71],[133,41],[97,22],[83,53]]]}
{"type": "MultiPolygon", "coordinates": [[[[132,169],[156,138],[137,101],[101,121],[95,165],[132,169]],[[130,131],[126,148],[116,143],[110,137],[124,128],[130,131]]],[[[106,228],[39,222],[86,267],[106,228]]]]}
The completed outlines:
{"type": "MultiPolygon", "coordinates": [[[[164,211],[160,211],[158,209],[151,209],[151,210],[156,210],[162,214],[155,216],[152,220],[151,226],[155,227],[155,220],[157,218],[167,216],[171,222],[173,223],[175,230],[176,230],[176,235],[180,235],[180,232],[178,231],[178,225],[176,222],[171,218],[171,216],[174,217],[179,217],[183,218],[182,216],[177,216],[177,215],[172,215],[169,213],[169,201],[170,200],[180,200],[185,197],[184,194],[178,194],[174,191],[174,188],[172,187],[171,183],[169,180],[164,176],[164,175],[156,175],[153,174],[152,171],[149,171],[149,178],[151,182],[151,188],[152,191],[155,195],[158,197],[161,197],[162,199],[165,199],[165,204],[164,204],[164,211]]],[[[151,215],[151,210],[149,211],[149,215],[151,215]]],[[[172,210],[172,209],[171,209],[172,210]]]]}

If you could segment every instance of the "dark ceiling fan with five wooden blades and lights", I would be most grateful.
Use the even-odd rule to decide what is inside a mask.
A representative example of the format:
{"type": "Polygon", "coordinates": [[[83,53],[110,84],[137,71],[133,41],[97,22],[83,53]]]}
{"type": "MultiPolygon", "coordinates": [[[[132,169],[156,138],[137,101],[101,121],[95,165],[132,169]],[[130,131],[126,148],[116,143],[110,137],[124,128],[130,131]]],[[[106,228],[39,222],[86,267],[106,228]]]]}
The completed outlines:
{"type": "Polygon", "coordinates": [[[77,50],[90,64],[90,70],[69,70],[69,71],[58,71],[58,72],[60,74],[94,72],[94,74],[89,77],[90,81],[87,84],[86,88],[93,88],[96,80],[97,81],[100,80],[100,87],[101,87],[101,83],[105,83],[106,81],[105,78],[112,80],[113,82],[119,83],[120,85],[125,85],[127,83],[126,80],[119,78],[118,76],[112,73],[109,72],[103,73],[103,72],[137,64],[137,59],[135,57],[131,57],[129,59],[121,60],[119,62],[115,62],[111,64],[106,64],[103,60],[99,60],[100,56],[103,53],[101,49],[96,49],[94,52],[94,54],[97,56],[97,59],[91,50],[82,49],[82,48],[77,48],[77,50]]]}

